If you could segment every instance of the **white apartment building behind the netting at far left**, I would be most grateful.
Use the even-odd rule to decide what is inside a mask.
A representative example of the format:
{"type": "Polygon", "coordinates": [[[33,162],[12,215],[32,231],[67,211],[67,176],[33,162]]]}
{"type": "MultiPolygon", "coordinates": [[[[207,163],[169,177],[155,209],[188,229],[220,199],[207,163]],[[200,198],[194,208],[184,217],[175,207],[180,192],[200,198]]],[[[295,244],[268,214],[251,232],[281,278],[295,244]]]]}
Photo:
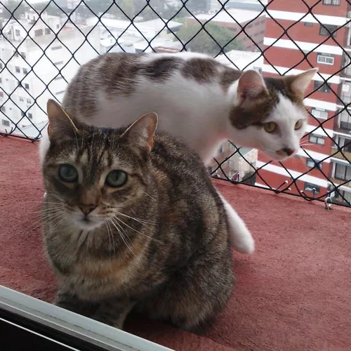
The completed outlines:
{"type": "Polygon", "coordinates": [[[98,32],[85,34],[89,26],[65,23],[58,16],[28,11],[2,23],[0,36],[0,131],[23,128],[37,136],[46,121],[48,98],[62,100],[67,82],[91,58],[98,55],[98,32]],[[74,53],[74,58],[72,58],[74,53]],[[17,128],[16,128],[17,127],[17,128]]]}

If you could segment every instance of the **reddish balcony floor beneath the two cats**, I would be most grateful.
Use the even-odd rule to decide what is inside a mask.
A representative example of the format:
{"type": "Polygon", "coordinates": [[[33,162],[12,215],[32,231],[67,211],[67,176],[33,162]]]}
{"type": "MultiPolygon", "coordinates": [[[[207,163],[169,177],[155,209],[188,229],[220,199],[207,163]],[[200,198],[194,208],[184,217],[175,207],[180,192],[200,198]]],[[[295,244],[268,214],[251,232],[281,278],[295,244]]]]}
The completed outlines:
{"type": "MultiPolygon", "coordinates": [[[[0,284],[51,301],[57,285],[39,230],[37,145],[0,138],[0,284]]],[[[216,181],[256,239],[234,254],[237,287],[204,336],[159,323],[126,329],[175,350],[350,350],[351,211],[216,181]]]]}

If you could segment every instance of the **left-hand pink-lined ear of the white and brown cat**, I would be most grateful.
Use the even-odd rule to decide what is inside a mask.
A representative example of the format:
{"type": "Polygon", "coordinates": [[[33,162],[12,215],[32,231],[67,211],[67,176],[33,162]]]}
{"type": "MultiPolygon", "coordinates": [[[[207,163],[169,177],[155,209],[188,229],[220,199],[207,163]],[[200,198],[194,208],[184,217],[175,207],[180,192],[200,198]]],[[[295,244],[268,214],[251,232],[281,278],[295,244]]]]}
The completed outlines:
{"type": "Polygon", "coordinates": [[[255,100],[267,93],[263,77],[253,69],[241,74],[237,88],[237,103],[241,105],[246,100],[255,100]]]}

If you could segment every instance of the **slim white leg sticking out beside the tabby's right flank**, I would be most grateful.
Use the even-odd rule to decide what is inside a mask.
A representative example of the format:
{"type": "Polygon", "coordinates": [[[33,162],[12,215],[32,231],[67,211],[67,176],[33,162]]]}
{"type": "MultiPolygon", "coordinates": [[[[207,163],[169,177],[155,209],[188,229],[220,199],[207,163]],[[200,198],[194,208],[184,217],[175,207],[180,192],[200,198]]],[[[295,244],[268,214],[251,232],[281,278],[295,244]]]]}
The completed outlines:
{"type": "MultiPolygon", "coordinates": [[[[219,194],[219,193],[218,193],[219,194]]],[[[251,232],[247,229],[244,220],[242,220],[234,208],[230,206],[227,200],[219,194],[222,199],[225,212],[228,218],[228,232],[230,234],[230,242],[236,251],[241,253],[253,253],[255,251],[255,241],[251,232]]]]}

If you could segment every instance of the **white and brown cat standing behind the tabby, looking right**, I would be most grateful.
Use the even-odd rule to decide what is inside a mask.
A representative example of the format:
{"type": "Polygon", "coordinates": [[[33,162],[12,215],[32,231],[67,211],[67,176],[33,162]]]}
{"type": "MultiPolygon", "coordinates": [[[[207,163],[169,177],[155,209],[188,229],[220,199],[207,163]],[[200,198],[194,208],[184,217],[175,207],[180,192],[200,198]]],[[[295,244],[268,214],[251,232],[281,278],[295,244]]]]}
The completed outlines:
{"type": "MultiPolygon", "coordinates": [[[[316,68],[262,77],[240,72],[200,53],[108,53],[81,66],[62,107],[86,124],[120,127],[154,111],[159,128],[183,140],[209,164],[227,139],[282,161],[305,134],[305,90],[316,68]]],[[[41,141],[41,162],[49,140],[41,141]]],[[[254,251],[254,240],[222,197],[234,249],[254,251]]]]}

